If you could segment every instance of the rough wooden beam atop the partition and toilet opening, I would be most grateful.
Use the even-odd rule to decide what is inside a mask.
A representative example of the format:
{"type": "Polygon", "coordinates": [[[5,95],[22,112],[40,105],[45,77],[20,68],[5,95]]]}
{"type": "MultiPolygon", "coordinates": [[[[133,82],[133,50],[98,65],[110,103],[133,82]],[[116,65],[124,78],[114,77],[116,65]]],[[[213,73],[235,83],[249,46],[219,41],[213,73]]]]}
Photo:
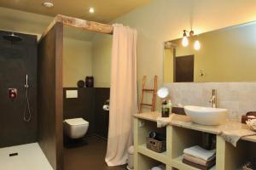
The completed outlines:
{"type": "Polygon", "coordinates": [[[54,18],[54,20],[49,24],[49,26],[46,28],[44,33],[42,34],[42,37],[40,38],[39,42],[41,39],[47,34],[47,32],[55,26],[55,24],[59,22],[62,23],[63,26],[70,26],[74,28],[79,28],[84,31],[95,31],[98,33],[103,33],[103,34],[113,34],[113,26],[107,25],[107,24],[102,24],[98,23],[95,21],[89,21],[89,20],[82,20],[62,14],[57,14],[54,18]]]}

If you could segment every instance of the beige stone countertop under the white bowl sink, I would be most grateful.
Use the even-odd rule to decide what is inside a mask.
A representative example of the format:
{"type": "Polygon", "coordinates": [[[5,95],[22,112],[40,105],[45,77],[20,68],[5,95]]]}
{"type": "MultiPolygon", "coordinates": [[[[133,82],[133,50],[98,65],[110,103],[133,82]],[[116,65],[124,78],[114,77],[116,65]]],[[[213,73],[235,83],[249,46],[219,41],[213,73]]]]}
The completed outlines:
{"type": "MultiPolygon", "coordinates": [[[[152,122],[156,122],[157,118],[160,116],[161,114],[158,111],[140,113],[135,115],[135,117],[139,119],[148,120],[152,122]]],[[[241,122],[230,122],[230,121],[225,122],[224,124],[218,125],[218,126],[200,125],[200,124],[191,122],[189,116],[176,115],[176,114],[173,114],[172,118],[170,117],[169,124],[176,127],[184,127],[192,130],[197,130],[205,133],[213,133],[213,134],[220,134],[222,131],[228,131],[228,130],[248,129],[246,124],[242,124],[241,122]]],[[[256,142],[256,135],[243,137],[241,139],[251,141],[251,142],[256,142]]]]}

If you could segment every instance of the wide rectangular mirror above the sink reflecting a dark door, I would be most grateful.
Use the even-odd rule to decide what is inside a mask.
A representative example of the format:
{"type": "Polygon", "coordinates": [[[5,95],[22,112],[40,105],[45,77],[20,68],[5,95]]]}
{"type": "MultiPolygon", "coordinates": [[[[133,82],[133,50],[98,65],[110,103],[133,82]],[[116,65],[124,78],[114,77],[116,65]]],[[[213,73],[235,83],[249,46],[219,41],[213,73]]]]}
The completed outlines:
{"type": "Polygon", "coordinates": [[[165,42],[164,82],[256,81],[256,22],[182,40],[165,42]]]}

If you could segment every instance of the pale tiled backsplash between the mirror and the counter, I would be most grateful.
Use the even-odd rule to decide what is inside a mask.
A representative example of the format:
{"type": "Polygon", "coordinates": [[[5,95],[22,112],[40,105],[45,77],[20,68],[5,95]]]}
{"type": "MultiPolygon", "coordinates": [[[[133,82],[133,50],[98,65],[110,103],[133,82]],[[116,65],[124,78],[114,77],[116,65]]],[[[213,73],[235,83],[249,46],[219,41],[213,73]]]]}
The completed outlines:
{"type": "Polygon", "coordinates": [[[218,107],[229,110],[229,118],[240,121],[247,111],[256,111],[256,82],[166,83],[172,105],[211,106],[212,89],[217,89],[218,107]]]}

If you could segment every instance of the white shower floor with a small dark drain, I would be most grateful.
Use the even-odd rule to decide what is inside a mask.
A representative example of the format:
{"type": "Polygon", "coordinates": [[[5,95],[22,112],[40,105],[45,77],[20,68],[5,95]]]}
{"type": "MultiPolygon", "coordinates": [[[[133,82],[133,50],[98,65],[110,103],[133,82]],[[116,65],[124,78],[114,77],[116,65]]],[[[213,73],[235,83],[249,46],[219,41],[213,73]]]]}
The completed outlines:
{"type": "Polygon", "coordinates": [[[38,143],[1,148],[0,169],[53,170],[38,143]],[[18,155],[9,156],[11,153],[18,153],[18,155]]]}

